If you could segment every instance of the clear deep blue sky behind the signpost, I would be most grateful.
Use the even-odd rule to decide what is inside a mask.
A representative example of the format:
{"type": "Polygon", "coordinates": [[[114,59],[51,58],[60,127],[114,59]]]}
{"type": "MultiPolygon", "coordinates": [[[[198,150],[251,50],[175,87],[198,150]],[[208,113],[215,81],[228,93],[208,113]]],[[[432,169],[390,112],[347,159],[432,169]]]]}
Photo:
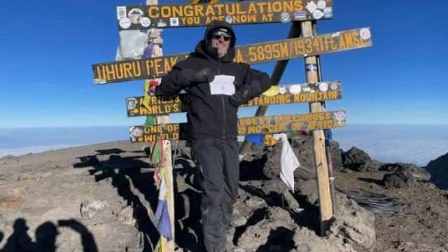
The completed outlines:
{"type": "MultiPolygon", "coordinates": [[[[326,102],[327,109],[344,109],[353,125],[448,125],[448,1],[333,2],[334,17],[318,21],[318,34],[370,27],[373,46],[321,56],[323,80],[342,82],[343,99],[326,102]]],[[[125,109],[126,97],[143,95],[143,80],[94,85],[92,77],[92,64],[115,60],[116,6],[140,3],[1,1],[0,128],[143,124],[125,109]]],[[[281,40],[289,28],[235,25],[237,45],[281,40]]],[[[164,55],[192,51],[203,34],[204,27],[165,29],[164,55]]],[[[274,63],[253,67],[271,74],[274,63]]],[[[303,59],[290,60],[280,83],[304,82],[303,59]]],[[[254,111],[240,109],[239,116],[254,111]]],[[[267,113],[307,111],[307,104],[288,104],[267,113]]]]}

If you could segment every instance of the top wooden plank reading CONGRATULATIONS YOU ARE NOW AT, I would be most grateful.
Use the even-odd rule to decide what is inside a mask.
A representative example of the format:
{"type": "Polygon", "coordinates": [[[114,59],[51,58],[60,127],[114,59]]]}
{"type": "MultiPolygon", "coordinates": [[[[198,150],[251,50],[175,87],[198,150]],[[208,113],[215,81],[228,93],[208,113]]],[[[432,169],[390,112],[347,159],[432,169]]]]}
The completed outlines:
{"type": "Polygon", "coordinates": [[[118,6],[118,29],[197,27],[212,20],[232,25],[326,20],[332,18],[332,0],[273,0],[228,3],[188,3],[160,6],[118,6]],[[307,8],[308,7],[308,8],[307,8]]]}

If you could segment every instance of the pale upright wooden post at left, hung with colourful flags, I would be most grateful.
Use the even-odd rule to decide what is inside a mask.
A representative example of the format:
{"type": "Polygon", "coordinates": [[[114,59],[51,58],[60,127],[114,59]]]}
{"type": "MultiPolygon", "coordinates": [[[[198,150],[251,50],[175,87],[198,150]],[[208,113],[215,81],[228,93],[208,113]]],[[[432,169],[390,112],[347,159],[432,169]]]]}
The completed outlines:
{"type": "MultiPolygon", "coordinates": [[[[146,5],[158,5],[158,0],[146,0],[146,5]]],[[[160,57],[160,55],[152,55],[153,57],[160,57]]],[[[158,80],[160,83],[160,79],[158,80]]],[[[158,124],[169,123],[169,116],[158,116],[157,117],[158,124]]],[[[161,236],[161,244],[164,246],[163,251],[174,252],[175,244],[174,244],[174,186],[173,186],[173,162],[172,162],[172,151],[171,151],[171,141],[164,140],[162,143],[163,152],[165,153],[165,165],[162,169],[165,170],[165,183],[167,184],[167,205],[168,205],[168,214],[169,221],[171,221],[171,231],[173,239],[168,241],[165,236],[161,236]]],[[[162,157],[163,158],[163,157],[162,157]]]]}

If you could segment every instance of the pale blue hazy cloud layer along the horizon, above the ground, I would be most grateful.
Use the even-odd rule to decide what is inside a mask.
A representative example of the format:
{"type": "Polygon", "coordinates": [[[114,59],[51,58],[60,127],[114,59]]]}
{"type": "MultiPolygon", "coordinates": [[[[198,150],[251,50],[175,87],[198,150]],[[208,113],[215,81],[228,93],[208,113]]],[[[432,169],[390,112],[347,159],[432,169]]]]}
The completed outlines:
{"type": "MultiPolygon", "coordinates": [[[[0,131],[0,158],[43,151],[129,141],[127,126],[50,127],[0,131]]],[[[448,127],[444,125],[347,125],[332,130],[339,148],[356,146],[380,162],[408,162],[418,166],[448,153],[448,127]]],[[[144,143],[140,143],[144,146],[144,143]]]]}

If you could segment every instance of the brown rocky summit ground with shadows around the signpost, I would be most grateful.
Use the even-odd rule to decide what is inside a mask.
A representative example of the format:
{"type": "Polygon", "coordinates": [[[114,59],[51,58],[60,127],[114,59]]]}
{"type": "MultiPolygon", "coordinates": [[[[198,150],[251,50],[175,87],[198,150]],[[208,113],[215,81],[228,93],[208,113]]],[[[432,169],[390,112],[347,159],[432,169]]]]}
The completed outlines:
{"type": "MultiPolygon", "coordinates": [[[[343,152],[333,141],[337,213],[320,237],[311,138],[290,143],[301,164],[294,193],[279,179],[280,145],[255,146],[241,162],[228,234],[234,251],[448,251],[448,191],[435,186],[447,181],[444,156],[428,164],[434,179],[357,148],[343,152]],[[379,193],[407,207],[373,214],[342,190],[379,193]]],[[[139,144],[115,142],[1,158],[0,251],[153,251],[158,192],[147,156],[139,144]]],[[[177,249],[201,251],[201,191],[184,143],[175,174],[177,249]]]]}

